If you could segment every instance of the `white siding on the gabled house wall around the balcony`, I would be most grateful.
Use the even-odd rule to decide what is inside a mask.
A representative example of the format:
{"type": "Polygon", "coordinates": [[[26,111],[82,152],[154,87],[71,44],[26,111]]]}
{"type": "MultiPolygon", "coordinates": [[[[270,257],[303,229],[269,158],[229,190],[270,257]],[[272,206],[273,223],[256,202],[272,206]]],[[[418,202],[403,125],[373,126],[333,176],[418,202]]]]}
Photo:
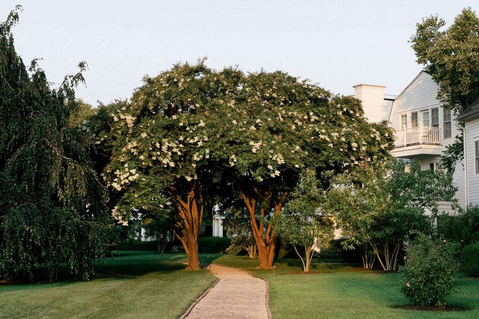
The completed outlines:
{"type": "MultiPolygon", "coordinates": [[[[446,146],[452,144],[455,141],[455,136],[460,134],[460,130],[452,123],[451,138],[444,139],[444,109],[441,107],[441,103],[437,100],[437,84],[432,80],[432,77],[425,71],[412,80],[412,83],[406,87],[406,89],[396,98],[392,105],[391,114],[389,116],[389,126],[394,130],[401,130],[401,115],[407,115],[407,128],[411,128],[411,112],[419,112],[422,110],[430,110],[432,108],[439,108],[439,128],[441,129],[441,143],[443,151],[446,150],[446,146]]],[[[452,114],[452,118],[454,118],[452,114]]],[[[478,134],[479,135],[479,126],[478,134]]],[[[478,137],[479,138],[479,137],[478,137]]],[[[412,160],[413,158],[411,158],[412,160]]],[[[438,156],[428,156],[428,154],[421,154],[417,157],[417,160],[421,162],[423,169],[428,169],[431,162],[439,162],[438,156]]],[[[479,176],[478,176],[479,178],[479,176]]],[[[465,184],[464,184],[464,165],[463,163],[457,163],[455,172],[453,175],[453,183],[457,187],[456,198],[459,204],[465,206],[465,184]]],[[[478,180],[479,187],[479,180],[478,180]]],[[[478,191],[479,201],[479,188],[478,191]]],[[[446,205],[442,202],[440,210],[444,209],[448,212],[451,211],[451,205],[446,205]]]]}

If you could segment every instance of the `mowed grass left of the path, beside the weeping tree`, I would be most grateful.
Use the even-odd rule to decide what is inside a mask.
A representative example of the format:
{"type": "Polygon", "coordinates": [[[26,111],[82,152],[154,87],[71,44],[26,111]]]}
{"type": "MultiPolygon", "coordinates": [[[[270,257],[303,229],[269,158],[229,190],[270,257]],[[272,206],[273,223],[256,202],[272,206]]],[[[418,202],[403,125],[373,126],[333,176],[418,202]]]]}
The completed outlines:
{"type": "Polygon", "coordinates": [[[121,252],[89,282],[0,286],[0,318],[178,318],[216,280],[185,271],[180,258],[121,252]]]}

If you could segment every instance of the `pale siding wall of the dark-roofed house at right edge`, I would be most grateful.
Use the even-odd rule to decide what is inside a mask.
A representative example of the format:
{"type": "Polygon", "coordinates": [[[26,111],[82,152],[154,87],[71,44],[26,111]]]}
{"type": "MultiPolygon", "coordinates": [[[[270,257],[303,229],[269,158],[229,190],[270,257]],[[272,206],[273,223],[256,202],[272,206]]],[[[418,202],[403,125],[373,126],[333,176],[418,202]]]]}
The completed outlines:
{"type": "Polygon", "coordinates": [[[476,174],[474,157],[475,141],[479,141],[479,119],[466,123],[468,200],[471,205],[479,205],[479,174],[476,174]]]}

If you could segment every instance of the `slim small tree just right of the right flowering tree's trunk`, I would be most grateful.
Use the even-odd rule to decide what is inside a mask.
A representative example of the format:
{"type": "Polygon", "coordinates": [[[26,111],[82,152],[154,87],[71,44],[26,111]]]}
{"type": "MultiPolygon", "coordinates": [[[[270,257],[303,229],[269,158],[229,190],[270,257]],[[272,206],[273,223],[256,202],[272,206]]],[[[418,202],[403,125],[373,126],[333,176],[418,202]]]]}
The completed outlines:
{"type": "Polygon", "coordinates": [[[323,192],[318,184],[314,170],[306,169],[285,205],[285,213],[278,218],[278,233],[286,243],[294,246],[305,272],[310,270],[314,252],[333,239],[333,219],[320,213],[323,192]]]}

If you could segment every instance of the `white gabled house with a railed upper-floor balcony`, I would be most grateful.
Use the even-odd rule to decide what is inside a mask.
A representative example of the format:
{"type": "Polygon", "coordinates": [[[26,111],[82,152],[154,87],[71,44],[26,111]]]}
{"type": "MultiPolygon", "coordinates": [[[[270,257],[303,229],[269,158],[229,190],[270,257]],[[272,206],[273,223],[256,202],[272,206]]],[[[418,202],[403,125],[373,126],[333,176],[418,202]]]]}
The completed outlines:
{"type": "MultiPolygon", "coordinates": [[[[437,89],[430,74],[421,71],[394,100],[389,114],[389,126],[396,137],[392,155],[419,160],[423,169],[437,169],[440,155],[460,134],[460,128],[453,121],[454,114],[444,110],[437,100],[437,89]]],[[[464,207],[467,200],[462,164],[456,165],[453,183],[458,188],[457,201],[464,207]]],[[[441,202],[439,211],[452,212],[451,204],[441,202]]]]}

